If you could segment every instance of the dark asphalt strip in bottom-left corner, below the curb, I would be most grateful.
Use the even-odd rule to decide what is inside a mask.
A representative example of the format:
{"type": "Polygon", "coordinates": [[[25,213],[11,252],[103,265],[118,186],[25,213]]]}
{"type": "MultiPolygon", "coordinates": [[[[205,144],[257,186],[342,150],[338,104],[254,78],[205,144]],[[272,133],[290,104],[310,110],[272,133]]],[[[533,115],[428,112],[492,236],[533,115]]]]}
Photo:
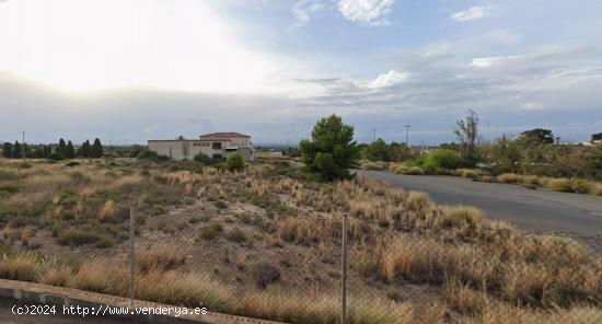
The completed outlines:
{"type": "Polygon", "coordinates": [[[28,303],[15,301],[12,299],[0,298],[0,323],[2,324],[139,324],[124,319],[109,316],[92,316],[82,317],[79,315],[62,315],[61,306],[56,306],[56,315],[14,315],[12,313],[13,305],[31,305],[39,303],[28,303]],[[60,313],[60,314],[59,314],[60,313]]]}

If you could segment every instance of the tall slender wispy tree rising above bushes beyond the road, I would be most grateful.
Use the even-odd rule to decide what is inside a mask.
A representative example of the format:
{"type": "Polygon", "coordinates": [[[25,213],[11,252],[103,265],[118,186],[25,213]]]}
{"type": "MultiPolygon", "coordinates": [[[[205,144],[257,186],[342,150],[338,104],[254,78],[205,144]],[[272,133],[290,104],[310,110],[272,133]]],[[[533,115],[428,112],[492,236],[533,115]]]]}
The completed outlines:
{"type": "Polygon", "coordinates": [[[460,141],[460,155],[464,165],[472,167],[478,162],[478,115],[468,109],[466,119],[458,120],[456,125],[453,132],[460,141]]]}

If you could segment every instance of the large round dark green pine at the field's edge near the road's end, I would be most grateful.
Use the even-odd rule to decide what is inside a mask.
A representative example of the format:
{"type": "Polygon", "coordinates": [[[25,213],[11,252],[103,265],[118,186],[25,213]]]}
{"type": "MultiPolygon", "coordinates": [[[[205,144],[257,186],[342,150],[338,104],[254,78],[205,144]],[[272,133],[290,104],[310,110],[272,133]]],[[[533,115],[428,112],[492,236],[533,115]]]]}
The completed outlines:
{"type": "Polygon", "coordinates": [[[349,167],[359,158],[354,127],[336,115],[320,119],[312,130],[312,139],[302,140],[300,148],[304,172],[319,181],[350,178],[349,167]]]}

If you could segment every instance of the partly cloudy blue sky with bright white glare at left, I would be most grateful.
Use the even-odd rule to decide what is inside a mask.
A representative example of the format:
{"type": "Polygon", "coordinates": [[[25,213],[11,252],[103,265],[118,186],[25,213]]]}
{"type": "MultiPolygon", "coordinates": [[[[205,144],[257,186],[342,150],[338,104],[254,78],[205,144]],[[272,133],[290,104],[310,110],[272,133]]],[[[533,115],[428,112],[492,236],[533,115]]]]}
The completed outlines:
{"type": "Polygon", "coordinates": [[[600,0],[0,0],[0,141],[602,131],[600,0]]]}

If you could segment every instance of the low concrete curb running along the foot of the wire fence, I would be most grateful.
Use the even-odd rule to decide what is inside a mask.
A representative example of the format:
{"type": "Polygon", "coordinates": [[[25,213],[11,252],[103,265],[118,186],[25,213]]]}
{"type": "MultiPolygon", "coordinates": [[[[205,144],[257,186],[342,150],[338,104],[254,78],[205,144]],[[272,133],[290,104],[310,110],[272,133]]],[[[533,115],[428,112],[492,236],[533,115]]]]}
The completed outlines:
{"type": "MultiPolygon", "coordinates": [[[[13,299],[15,301],[26,301],[39,304],[56,305],[57,308],[80,305],[88,308],[170,308],[173,305],[135,300],[116,297],[111,294],[84,291],[73,288],[56,287],[44,284],[24,282],[15,280],[0,279],[0,298],[13,299]]],[[[188,313],[194,312],[187,309],[188,313]]],[[[60,312],[57,312],[57,314],[60,312]]],[[[97,315],[88,315],[97,317],[97,315]]],[[[109,315],[106,315],[109,316],[109,315]]],[[[119,314],[114,317],[135,320],[149,324],[283,324],[282,322],[271,322],[256,320],[243,316],[228,315],[222,313],[208,312],[207,314],[182,314],[180,316],[165,314],[119,314]]]]}

